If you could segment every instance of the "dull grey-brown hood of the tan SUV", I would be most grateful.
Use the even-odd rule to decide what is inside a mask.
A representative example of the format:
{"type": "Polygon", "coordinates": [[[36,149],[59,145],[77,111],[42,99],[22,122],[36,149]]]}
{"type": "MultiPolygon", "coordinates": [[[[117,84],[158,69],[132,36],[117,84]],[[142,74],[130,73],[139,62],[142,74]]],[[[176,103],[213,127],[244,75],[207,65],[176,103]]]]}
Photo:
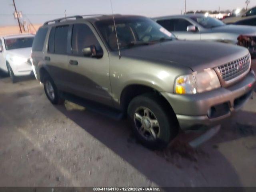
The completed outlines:
{"type": "Polygon", "coordinates": [[[158,60],[186,66],[193,71],[214,68],[248,54],[246,48],[230,44],[203,41],[174,40],[122,50],[122,56],[158,60]]]}

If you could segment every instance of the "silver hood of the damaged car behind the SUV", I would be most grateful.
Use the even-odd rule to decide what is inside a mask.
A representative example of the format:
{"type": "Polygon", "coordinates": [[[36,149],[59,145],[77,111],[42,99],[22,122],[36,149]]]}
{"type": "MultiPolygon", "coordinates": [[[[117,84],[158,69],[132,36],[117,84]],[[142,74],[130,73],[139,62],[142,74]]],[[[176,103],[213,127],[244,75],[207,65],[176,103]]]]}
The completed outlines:
{"type": "Polygon", "coordinates": [[[244,25],[224,25],[211,29],[212,32],[227,32],[238,35],[253,35],[256,36],[256,27],[244,25]]]}

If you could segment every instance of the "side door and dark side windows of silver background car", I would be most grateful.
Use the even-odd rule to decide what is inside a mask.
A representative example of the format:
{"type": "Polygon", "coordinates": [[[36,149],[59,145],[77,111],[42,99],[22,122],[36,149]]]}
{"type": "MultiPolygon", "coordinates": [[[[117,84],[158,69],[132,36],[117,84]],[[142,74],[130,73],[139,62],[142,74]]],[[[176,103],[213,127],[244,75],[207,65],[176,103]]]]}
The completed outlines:
{"type": "Polygon", "coordinates": [[[188,32],[187,27],[193,25],[186,19],[173,18],[158,20],[158,24],[162,25],[168,31],[172,32],[180,40],[200,40],[200,32],[188,32]]]}

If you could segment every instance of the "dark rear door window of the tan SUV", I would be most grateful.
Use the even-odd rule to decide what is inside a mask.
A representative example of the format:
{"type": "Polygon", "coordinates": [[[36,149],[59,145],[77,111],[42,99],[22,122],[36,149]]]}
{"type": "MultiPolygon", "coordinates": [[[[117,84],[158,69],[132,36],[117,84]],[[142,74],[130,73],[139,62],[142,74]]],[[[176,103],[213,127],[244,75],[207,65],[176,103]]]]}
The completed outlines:
{"type": "Polygon", "coordinates": [[[67,54],[68,26],[58,26],[54,34],[54,53],[67,54]]]}

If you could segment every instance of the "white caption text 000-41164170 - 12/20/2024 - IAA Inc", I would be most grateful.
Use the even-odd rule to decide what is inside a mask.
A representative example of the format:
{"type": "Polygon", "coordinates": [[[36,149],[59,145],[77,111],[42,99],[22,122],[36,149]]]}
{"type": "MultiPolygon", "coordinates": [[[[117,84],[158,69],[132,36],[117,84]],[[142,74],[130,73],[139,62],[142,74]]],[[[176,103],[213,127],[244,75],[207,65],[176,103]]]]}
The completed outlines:
{"type": "Polygon", "coordinates": [[[160,191],[157,187],[94,187],[94,191],[160,191]]]}

